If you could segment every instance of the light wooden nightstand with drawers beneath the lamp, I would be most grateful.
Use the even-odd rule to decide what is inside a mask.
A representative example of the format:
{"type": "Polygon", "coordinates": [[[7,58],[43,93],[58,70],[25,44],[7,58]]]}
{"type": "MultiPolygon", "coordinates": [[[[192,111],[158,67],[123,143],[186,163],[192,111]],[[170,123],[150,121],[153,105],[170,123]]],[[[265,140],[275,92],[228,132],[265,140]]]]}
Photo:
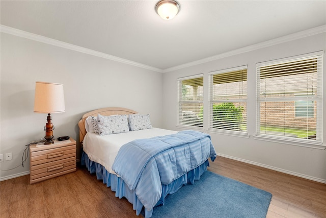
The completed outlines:
{"type": "Polygon", "coordinates": [[[76,141],[30,146],[30,184],[76,171],[76,141]]]}

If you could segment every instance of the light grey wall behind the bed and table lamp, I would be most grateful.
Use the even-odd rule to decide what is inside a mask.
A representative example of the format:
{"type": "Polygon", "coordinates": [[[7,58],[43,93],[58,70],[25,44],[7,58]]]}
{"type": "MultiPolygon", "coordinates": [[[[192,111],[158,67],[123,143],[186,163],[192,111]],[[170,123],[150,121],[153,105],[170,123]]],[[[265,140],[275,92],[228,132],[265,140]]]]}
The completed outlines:
{"type": "MultiPolygon", "coordinates": [[[[21,164],[25,144],[45,136],[46,114],[34,113],[35,82],[64,84],[66,112],[53,113],[53,135],[79,139],[77,123],[84,113],[103,107],[125,107],[150,113],[162,123],[162,74],[1,33],[1,180],[29,173],[21,164]],[[19,166],[10,171],[3,171],[19,166]]],[[[79,157],[77,144],[77,158],[79,157]]]]}

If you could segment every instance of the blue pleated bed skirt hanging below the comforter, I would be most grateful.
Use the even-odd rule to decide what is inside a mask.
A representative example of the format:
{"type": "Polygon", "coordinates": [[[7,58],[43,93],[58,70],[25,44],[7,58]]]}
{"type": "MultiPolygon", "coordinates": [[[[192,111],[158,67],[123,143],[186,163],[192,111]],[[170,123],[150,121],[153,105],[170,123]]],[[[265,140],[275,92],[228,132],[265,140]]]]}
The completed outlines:
{"type": "MultiPolygon", "coordinates": [[[[111,190],[116,192],[116,197],[119,199],[125,197],[132,204],[133,210],[136,211],[137,215],[141,213],[144,205],[138,199],[135,190],[130,190],[121,177],[108,173],[101,164],[91,161],[85,152],[82,154],[81,163],[88,168],[88,171],[91,174],[96,173],[96,178],[98,180],[102,180],[107,187],[111,187],[111,190]]],[[[194,184],[194,181],[199,180],[200,176],[206,171],[207,166],[209,166],[208,160],[197,168],[192,169],[187,174],[184,174],[180,178],[172,181],[170,184],[162,185],[162,196],[155,206],[164,205],[165,197],[176,192],[183,185],[187,183],[194,184]]],[[[155,210],[155,207],[150,211],[145,209],[145,218],[151,217],[153,210],[155,210]]]]}

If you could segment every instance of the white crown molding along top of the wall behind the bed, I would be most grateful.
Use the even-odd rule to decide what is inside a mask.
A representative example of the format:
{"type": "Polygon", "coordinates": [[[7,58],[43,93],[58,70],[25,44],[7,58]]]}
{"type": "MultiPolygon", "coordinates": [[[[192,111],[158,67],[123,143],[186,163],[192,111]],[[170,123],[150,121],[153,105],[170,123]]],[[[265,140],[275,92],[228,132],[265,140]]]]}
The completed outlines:
{"type": "Polygon", "coordinates": [[[64,49],[69,49],[69,50],[73,50],[73,51],[76,51],[76,52],[81,52],[81,53],[85,53],[85,54],[88,54],[88,55],[93,55],[93,56],[96,56],[96,57],[105,58],[105,59],[108,59],[108,60],[117,61],[117,62],[121,62],[121,63],[124,63],[124,64],[129,64],[129,65],[132,65],[132,66],[137,66],[137,67],[141,67],[141,68],[144,68],[144,69],[153,70],[153,71],[156,71],[156,72],[162,72],[162,69],[159,69],[159,68],[156,68],[156,67],[152,67],[152,66],[148,66],[148,65],[141,64],[141,63],[138,63],[138,62],[134,62],[134,61],[130,61],[130,60],[127,60],[127,59],[119,58],[119,57],[116,57],[116,56],[113,56],[113,55],[108,55],[108,54],[105,54],[105,53],[102,53],[102,52],[97,52],[97,51],[94,51],[94,50],[91,50],[91,49],[86,49],[85,47],[77,46],[77,45],[74,45],[74,44],[70,44],[70,43],[67,43],[67,42],[63,42],[63,41],[48,38],[48,37],[45,37],[45,36],[37,35],[37,34],[34,34],[34,33],[22,31],[22,30],[15,29],[15,28],[12,28],[12,27],[0,25],[0,31],[3,32],[3,33],[14,35],[14,36],[19,36],[19,37],[23,37],[23,38],[26,38],[26,39],[31,39],[31,40],[34,40],[34,41],[38,41],[38,42],[42,42],[42,43],[46,43],[46,44],[50,44],[50,45],[54,45],[54,46],[58,46],[58,47],[63,47],[64,49]]]}

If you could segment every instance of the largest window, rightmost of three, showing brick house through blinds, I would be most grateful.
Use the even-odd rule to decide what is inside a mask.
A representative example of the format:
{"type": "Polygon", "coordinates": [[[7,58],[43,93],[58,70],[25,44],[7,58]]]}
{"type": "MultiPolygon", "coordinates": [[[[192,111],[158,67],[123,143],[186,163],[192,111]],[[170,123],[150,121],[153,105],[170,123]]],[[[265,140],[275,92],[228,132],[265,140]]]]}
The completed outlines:
{"type": "Polygon", "coordinates": [[[322,55],[257,64],[257,136],[322,143],[322,55]]]}

